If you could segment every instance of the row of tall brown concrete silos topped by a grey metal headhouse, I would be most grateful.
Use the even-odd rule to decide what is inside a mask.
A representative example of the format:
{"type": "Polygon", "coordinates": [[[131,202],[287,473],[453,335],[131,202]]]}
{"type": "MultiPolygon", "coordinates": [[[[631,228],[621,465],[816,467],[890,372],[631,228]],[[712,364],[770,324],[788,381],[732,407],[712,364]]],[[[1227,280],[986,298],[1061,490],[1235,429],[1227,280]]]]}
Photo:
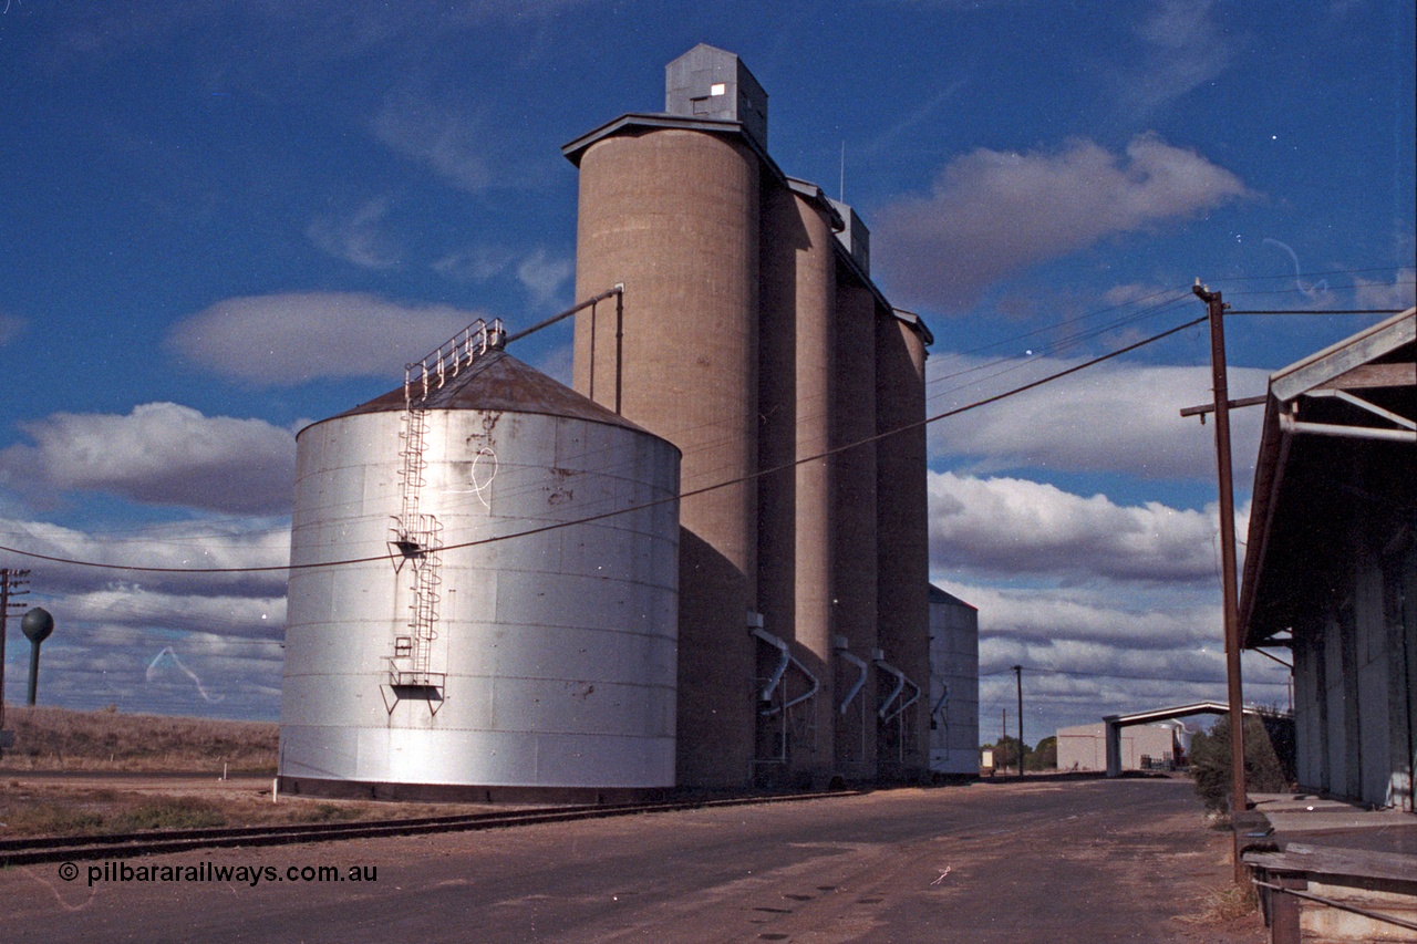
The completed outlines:
{"type": "Polygon", "coordinates": [[[774,163],[735,55],[666,79],[564,153],[577,295],[622,286],[577,319],[575,387],[683,452],[677,782],[922,775],[930,333],[850,207],[774,163]]]}

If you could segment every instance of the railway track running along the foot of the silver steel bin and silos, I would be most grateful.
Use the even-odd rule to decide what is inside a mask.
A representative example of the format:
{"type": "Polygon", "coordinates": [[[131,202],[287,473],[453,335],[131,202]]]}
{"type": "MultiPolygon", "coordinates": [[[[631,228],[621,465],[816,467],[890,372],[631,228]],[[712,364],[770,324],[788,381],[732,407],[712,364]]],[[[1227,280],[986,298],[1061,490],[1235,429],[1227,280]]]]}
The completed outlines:
{"type": "Polygon", "coordinates": [[[306,842],[336,842],[340,839],[368,839],[378,836],[417,836],[436,832],[475,832],[506,829],[538,824],[602,819],[639,814],[707,809],[713,807],[743,807],[765,802],[801,802],[828,797],[854,797],[859,791],[825,794],[781,794],[731,799],[694,799],[655,804],[609,804],[554,807],[519,811],[490,811],[456,816],[421,816],[410,819],[376,819],[364,822],[283,824],[273,826],[234,826],[208,829],[160,829],[146,832],[109,833],[96,836],[35,836],[0,841],[0,867],[37,865],[44,862],[82,862],[94,859],[128,859],[191,849],[228,849],[238,846],[286,846],[306,842]]]}

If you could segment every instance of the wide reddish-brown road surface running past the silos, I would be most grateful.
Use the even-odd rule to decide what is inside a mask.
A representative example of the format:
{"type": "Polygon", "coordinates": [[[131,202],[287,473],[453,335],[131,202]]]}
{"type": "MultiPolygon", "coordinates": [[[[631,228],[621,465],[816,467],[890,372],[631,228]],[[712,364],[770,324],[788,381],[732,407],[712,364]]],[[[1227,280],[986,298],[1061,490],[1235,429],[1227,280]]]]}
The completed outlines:
{"type": "Polygon", "coordinates": [[[17,867],[0,913],[6,940],[86,944],[1258,944],[1258,916],[1196,921],[1226,887],[1227,849],[1186,781],[976,784],[74,863],[72,880],[17,867]],[[313,880],[320,866],[341,880],[313,880]]]}

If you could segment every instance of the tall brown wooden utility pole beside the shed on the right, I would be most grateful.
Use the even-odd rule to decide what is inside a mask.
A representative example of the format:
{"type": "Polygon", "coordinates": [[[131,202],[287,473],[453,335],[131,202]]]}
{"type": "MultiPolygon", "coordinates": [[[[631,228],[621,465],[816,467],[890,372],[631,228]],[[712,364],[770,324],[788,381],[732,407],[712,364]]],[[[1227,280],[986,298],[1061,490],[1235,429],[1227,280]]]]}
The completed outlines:
{"type": "Polygon", "coordinates": [[[1230,819],[1236,884],[1247,882],[1240,860],[1240,832],[1236,816],[1248,808],[1244,785],[1244,693],[1240,685],[1240,592],[1236,585],[1236,499],[1230,473],[1230,386],[1226,378],[1226,303],[1220,292],[1196,279],[1192,289],[1206,303],[1210,316],[1210,373],[1216,410],[1216,471],[1220,479],[1220,585],[1226,626],[1226,687],[1230,696],[1230,819]]]}

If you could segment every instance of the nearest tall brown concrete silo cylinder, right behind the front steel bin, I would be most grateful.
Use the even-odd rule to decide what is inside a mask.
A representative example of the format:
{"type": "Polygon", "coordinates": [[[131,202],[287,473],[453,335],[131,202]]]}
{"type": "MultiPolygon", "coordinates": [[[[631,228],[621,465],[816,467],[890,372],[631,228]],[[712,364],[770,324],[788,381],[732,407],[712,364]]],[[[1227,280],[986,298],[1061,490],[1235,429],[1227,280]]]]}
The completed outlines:
{"type": "MultiPolygon", "coordinates": [[[[758,96],[765,129],[767,96],[747,69],[680,65],[670,77],[680,91],[700,82],[704,98],[758,96]]],[[[601,404],[619,395],[626,418],[683,451],[679,774],[740,785],[754,741],[745,621],[757,608],[760,159],[718,118],[652,123],[650,133],[635,119],[565,147],[581,170],[577,295],[625,285],[622,332],[577,320],[575,387],[594,387],[601,404]]]]}

